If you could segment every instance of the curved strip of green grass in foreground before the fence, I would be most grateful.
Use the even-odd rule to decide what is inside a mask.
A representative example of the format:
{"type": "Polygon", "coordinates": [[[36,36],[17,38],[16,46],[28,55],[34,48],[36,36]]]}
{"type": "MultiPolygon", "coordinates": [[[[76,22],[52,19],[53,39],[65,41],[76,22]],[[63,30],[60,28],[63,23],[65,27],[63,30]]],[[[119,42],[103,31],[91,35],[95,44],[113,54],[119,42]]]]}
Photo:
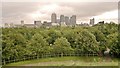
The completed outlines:
{"type": "Polygon", "coordinates": [[[10,63],[5,66],[118,66],[118,59],[101,57],[54,57],[10,63]]]}

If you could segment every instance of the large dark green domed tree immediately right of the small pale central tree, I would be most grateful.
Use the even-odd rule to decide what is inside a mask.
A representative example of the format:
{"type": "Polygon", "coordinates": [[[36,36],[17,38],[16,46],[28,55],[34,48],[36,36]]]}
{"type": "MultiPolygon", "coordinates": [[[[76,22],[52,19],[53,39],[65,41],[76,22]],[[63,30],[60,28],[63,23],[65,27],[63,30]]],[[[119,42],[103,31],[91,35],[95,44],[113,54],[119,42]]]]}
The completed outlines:
{"type": "Polygon", "coordinates": [[[97,53],[99,51],[99,44],[95,36],[87,30],[83,30],[77,35],[75,43],[77,53],[97,53]]]}

